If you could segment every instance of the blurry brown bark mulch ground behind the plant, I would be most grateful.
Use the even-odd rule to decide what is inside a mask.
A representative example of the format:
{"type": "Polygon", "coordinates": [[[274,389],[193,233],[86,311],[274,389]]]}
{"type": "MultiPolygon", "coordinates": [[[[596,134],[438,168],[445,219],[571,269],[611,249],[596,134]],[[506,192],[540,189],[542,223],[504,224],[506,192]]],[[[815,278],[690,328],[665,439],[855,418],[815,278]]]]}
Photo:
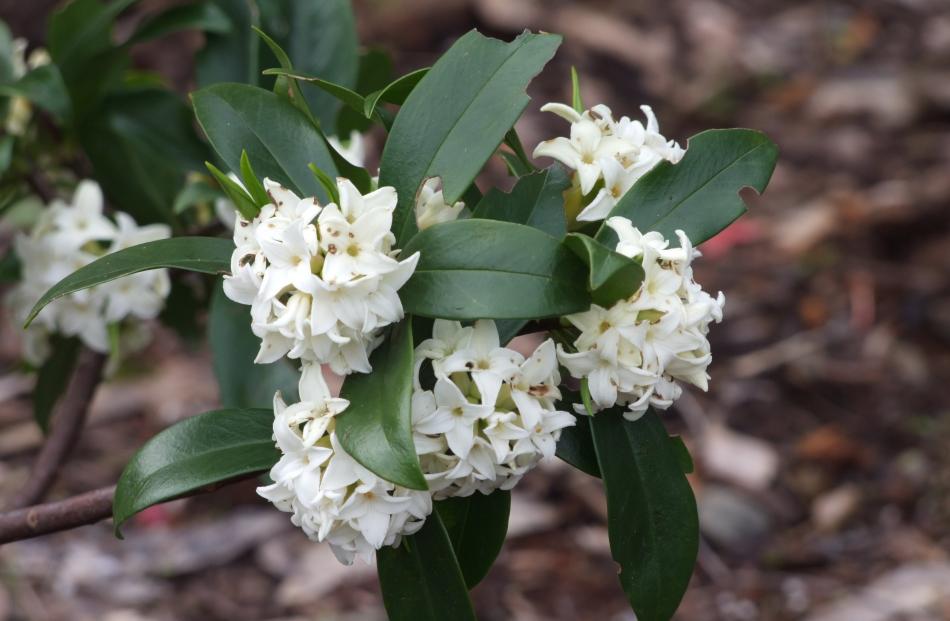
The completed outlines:
{"type": "MultiPolygon", "coordinates": [[[[0,0],[41,43],[53,3],[0,0]]],[[[145,1],[129,12],[169,4],[145,1]]],[[[653,106],[668,138],[752,127],[779,145],[764,196],[704,244],[697,280],[726,292],[708,394],[666,415],[697,462],[703,545],[677,619],[950,619],[950,6],[946,0],[358,0],[361,40],[399,70],[470,28],[564,34],[538,108],[653,106]]],[[[138,54],[182,92],[201,37],[138,54]]],[[[373,145],[380,141],[370,139],[373,145]]],[[[372,155],[371,160],[375,159],[372,155]]],[[[487,172],[509,183],[500,162],[487,172]]],[[[5,233],[9,235],[9,232],[5,233]]],[[[40,442],[15,328],[0,340],[0,497],[40,442]]],[[[211,409],[205,351],[156,339],[103,386],[54,496],[115,480],[171,422],[211,409]]],[[[561,462],[516,489],[508,543],[474,592],[485,621],[632,620],[599,481],[561,462]]],[[[372,567],[341,567],[247,482],[106,525],[0,548],[0,620],[384,619],[372,567]]]]}

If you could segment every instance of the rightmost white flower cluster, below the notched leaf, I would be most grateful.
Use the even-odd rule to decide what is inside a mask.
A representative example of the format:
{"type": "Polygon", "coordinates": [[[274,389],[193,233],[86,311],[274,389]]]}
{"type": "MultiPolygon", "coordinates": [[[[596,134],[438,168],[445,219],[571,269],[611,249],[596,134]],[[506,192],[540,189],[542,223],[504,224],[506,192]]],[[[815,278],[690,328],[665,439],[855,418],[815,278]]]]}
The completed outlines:
{"type": "Polygon", "coordinates": [[[626,405],[636,420],[653,406],[668,408],[682,394],[678,381],[706,390],[709,324],[722,320],[725,297],[713,298],[693,280],[691,263],[700,256],[683,231],[680,247],[655,231],[641,233],[630,220],[612,217],[607,225],[620,241],[616,250],[641,261],[643,284],[610,308],[596,304],[566,319],[580,336],[576,352],[558,348],[558,358],[576,378],[587,378],[597,409],[626,405]]]}

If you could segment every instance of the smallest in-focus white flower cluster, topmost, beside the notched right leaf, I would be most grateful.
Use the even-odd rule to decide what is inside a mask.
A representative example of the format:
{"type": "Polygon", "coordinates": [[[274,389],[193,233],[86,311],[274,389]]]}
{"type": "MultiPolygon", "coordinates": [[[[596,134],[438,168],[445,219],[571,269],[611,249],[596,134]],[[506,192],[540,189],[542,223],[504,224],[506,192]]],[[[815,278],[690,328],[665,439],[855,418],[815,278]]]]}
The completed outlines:
{"type": "Polygon", "coordinates": [[[600,184],[578,220],[603,220],[627,190],[657,163],[668,160],[675,164],[682,159],[685,151],[660,134],[650,106],[640,109],[647,118],[646,127],[628,117],[615,121],[610,108],[603,104],[582,113],[560,103],[541,108],[570,122],[571,134],[570,138],[558,136],[541,142],[534,156],[550,157],[576,171],[585,196],[600,184]]]}

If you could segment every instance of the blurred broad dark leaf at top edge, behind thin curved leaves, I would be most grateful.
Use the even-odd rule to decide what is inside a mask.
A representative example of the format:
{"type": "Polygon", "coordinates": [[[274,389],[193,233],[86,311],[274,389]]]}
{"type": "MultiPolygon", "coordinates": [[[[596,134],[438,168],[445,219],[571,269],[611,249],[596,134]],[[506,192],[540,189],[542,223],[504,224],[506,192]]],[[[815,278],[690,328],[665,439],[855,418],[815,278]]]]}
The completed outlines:
{"type": "MultiPolygon", "coordinates": [[[[300,73],[350,89],[356,84],[359,50],[349,0],[268,0],[260,7],[263,29],[287,50],[300,73]]],[[[268,66],[266,61],[262,66],[268,66]]],[[[312,89],[304,97],[321,126],[332,131],[339,103],[312,89]]]]}

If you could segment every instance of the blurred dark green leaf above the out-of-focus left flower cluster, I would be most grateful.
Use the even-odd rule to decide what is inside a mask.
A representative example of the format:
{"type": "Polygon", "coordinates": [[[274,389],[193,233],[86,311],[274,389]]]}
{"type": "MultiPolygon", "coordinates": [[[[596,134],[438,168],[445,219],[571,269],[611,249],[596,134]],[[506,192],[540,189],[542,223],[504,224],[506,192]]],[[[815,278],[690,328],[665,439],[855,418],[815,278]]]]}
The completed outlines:
{"type": "Polygon", "coordinates": [[[79,129],[109,199],[140,224],[175,226],[175,196],[210,156],[185,103],[158,89],[110,95],[79,129]]]}

